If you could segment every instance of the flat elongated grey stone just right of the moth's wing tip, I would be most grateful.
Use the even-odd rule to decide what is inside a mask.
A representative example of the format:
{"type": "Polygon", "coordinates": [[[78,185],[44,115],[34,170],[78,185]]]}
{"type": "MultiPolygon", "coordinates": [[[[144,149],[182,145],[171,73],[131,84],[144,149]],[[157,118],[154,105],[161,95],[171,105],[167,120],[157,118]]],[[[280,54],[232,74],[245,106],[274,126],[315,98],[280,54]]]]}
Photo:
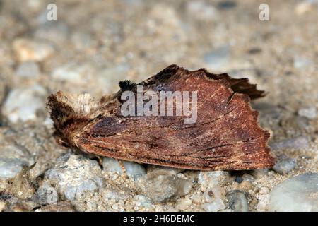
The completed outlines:
{"type": "Polygon", "coordinates": [[[281,150],[285,148],[293,148],[295,150],[307,149],[309,142],[307,136],[296,136],[294,138],[278,141],[270,144],[272,150],[281,150]]]}

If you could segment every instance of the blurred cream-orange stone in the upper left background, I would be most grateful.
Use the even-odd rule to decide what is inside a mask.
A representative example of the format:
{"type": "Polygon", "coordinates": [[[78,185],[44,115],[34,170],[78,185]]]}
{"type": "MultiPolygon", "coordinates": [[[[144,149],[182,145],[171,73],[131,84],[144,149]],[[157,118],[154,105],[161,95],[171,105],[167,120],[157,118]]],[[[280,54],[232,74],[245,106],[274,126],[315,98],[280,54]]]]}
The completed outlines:
{"type": "Polygon", "coordinates": [[[43,61],[54,52],[53,47],[45,42],[23,38],[13,41],[13,50],[18,61],[43,61]]]}

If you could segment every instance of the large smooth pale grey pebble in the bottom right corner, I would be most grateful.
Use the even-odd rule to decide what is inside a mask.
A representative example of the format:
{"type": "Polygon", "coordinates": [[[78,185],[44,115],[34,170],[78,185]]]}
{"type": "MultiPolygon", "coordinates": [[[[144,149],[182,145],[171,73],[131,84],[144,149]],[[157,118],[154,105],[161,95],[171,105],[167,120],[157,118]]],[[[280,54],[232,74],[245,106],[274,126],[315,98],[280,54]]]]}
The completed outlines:
{"type": "Polygon", "coordinates": [[[269,210],[277,212],[317,212],[318,174],[301,174],[278,184],[271,191],[269,210]]]}

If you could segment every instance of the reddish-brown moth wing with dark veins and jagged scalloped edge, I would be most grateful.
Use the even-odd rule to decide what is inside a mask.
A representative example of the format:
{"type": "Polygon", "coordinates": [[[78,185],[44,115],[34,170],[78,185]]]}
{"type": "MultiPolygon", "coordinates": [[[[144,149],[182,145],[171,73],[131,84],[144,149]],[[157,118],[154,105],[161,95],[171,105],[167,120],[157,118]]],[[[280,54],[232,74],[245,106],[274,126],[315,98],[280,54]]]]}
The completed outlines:
{"type": "MultiPolygon", "coordinates": [[[[249,96],[233,93],[228,78],[170,66],[144,81],[146,90],[197,91],[197,119],[122,117],[117,112],[92,121],[76,136],[81,150],[117,159],[185,169],[261,169],[274,163],[249,96]],[[159,76],[158,76],[159,75],[159,76]]],[[[120,93],[120,92],[119,92],[120,93]]]]}

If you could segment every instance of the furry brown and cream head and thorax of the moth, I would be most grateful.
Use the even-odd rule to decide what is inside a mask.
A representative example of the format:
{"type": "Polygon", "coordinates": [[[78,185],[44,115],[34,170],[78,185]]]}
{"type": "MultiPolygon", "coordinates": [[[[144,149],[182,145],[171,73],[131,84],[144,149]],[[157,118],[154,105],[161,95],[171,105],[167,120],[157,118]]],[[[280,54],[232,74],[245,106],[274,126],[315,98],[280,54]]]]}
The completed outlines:
{"type": "Polygon", "coordinates": [[[89,94],[72,95],[59,91],[47,98],[47,107],[58,143],[71,147],[75,145],[73,137],[93,119],[98,102],[89,94]]]}

